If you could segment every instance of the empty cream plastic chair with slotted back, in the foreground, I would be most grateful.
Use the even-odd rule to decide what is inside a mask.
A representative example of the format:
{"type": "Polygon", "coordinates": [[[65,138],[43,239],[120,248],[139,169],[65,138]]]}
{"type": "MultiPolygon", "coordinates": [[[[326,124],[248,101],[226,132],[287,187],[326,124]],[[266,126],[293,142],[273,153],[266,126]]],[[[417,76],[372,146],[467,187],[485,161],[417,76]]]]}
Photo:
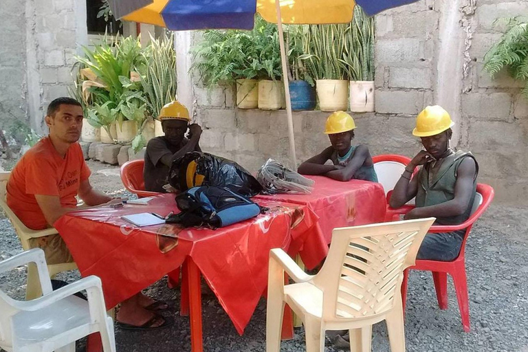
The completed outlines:
{"type": "Polygon", "coordinates": [[[333,230],[320,272],[305,274],[283,250],[270,252],[266,351],[281,347],[284,306],[303,320],[306,351],[325,350],[326,330],[349,330],[352,352],[371,351],[372,325],[386,320],[391,351],[405,351],[401,281],[434,218],[333,230]],[[295,283],[285,285],[287,272],[295,283]]]}

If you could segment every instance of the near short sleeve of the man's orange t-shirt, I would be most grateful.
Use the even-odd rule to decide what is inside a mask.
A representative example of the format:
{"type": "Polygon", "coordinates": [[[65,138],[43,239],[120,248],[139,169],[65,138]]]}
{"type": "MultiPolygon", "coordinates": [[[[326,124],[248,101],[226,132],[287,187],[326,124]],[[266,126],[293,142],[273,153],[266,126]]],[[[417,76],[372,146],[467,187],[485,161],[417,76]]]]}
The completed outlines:
{"type": "Polygon", "coordinates": [[[58,197],[58,175],[50,161],[34,155],[26,160],[25,192],[29,195],[55,195],[58,197]]]}

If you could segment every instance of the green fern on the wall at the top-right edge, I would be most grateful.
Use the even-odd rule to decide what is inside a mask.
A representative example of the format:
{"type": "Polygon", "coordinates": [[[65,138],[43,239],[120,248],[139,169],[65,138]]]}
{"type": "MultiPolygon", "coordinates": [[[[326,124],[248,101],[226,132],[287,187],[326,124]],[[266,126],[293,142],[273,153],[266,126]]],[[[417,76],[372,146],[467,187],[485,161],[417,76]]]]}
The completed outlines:
{"type": "Polygon", "coordinates": [[[506,67],[511,78],[525,83],[522,96],[528,100],[528,18],[498,19],[494,25],[505,26],[507,30],[484,56],[484,69],[494,77],[506,67]]]}

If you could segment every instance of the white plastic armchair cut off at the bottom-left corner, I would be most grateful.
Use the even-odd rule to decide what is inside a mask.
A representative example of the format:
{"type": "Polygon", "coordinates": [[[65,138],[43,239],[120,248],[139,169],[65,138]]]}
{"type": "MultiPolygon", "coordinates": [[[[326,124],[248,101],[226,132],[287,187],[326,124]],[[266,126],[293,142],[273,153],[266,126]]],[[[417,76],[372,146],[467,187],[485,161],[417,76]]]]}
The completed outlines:
{"type": "Polygon", "coordinates": [[[39,248],[0,261],[0,273],[30,262],[37,267],[43,296],[19,301],[0,290],[0,347],[8,352],[75,352],[76,340],[99,332],[103,351],[115,352],[113,320],[104,311],[100,278],[88,276],[52,291],[39,248]],[[87,301],[73,296],[83,290],[87,301]]]}

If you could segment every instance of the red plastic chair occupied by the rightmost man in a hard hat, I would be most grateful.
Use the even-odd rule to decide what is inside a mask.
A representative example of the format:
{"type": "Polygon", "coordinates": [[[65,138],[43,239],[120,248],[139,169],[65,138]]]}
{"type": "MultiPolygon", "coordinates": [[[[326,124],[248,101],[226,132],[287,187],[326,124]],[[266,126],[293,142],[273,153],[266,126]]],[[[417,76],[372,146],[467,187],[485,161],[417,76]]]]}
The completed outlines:
{"type": "Polygon", "coordinates": [[[467,299],[467,278],[465,276],[465,243],[475,221],[481,217],[483,212],[492,203],[495,191],[487,184],[477,184],[477,197],[475,198],[472,214],[469,219],[454,226],[432,226],[429,232],[451,232],[465,229],[464,240],[459,256],[454,261],[426,261],[417,259],[416,264],[404,271],[404,281],[401,283],[401,299],[405,303],[407,296],[407,279],[409,270],[430,270],[437,291],[438,305],[440,309],[448,309],[448,275],[453,278],[456,299],[459,301],[459,309],[462,317],[462,326],[465,332],[470,332],[470,307],[467,299]]]}

